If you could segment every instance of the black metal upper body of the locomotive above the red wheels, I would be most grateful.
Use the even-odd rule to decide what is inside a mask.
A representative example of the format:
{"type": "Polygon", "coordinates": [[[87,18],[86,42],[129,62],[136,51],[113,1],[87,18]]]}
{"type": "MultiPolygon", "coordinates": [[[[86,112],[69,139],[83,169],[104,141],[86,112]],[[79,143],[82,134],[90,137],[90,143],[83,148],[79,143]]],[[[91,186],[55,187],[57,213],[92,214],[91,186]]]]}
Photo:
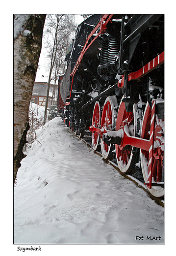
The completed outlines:
{"type": "MultiPolygon", "coordinates": [[[[77,110],[84,109],[84,113],[91,113],[94,99],[103,102],[108,95],[116,95],[119,100],[124,95],[127,112],[132,111],[133,104],[139,100],[139,94],[146,100],[147,93],[147,100],[151,104],[149,81],[164,90],[164,65],[139,80],[128,81],[128,74],[139,70],[164,51],[164,15],[114,14],[106,24],[106,30],[101,32],[84,53],[75,75],[70,75],[86,39],[103,16],[105,15],[92,15],[77,27],[75,39],[66,57],[67,70],[60,86],[63,101],[66,102],[66,98],[69,98],[70,109],[74,106],[77,110]],[[114,91],[107,90],[116,85],[122,75],[122,89],[114,86],[114,91]]],[[[100,32],[101,26],[90,37],[88,44],[100,32]]]]}

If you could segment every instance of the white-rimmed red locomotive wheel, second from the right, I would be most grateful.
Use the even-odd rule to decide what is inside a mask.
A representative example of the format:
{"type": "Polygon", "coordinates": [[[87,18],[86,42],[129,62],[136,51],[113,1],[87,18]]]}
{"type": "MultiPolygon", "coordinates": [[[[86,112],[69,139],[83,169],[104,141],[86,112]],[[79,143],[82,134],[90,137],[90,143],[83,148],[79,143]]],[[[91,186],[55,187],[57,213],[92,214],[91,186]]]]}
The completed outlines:
{"type": "MultiPolygon", "coordinates": [[[[122,98],[123,99],[123,98],[122,98]]],[[[123,121],[127,121],[128,125],[133,125],[133,132],[130,133],[131,136],[135,136],[135,108],[133,106],[132,112],[126,112],[125,103],[121,100],[119,105],[119,110],[117,114],[116,130],[119,130],[123,121]]],[[[121,150],[120,145],[116,144],[116,159],[118,167],[121,172],[126,173],[131,164],[133,157],[133,146],[129,146],[127,150],[121,150]]]]}

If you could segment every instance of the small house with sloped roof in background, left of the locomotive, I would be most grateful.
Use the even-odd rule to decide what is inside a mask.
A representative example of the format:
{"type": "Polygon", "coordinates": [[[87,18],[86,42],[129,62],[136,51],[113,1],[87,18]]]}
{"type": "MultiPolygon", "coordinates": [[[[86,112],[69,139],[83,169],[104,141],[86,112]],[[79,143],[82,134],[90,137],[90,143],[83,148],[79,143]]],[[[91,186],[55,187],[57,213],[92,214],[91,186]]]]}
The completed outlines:
{"type": "MultiPolygon", "coordinates": [[[[33,91],[32,91],[31,101],[37,105],[45,107],[47,89],[48,89],[47,82],[35,82],[33,91]]],[[[48,108],[50,108],[51,105],[54,105],[55,103],[57,103],[57,95],[58,95],[58,85],[50,84],[48,108]]]]}

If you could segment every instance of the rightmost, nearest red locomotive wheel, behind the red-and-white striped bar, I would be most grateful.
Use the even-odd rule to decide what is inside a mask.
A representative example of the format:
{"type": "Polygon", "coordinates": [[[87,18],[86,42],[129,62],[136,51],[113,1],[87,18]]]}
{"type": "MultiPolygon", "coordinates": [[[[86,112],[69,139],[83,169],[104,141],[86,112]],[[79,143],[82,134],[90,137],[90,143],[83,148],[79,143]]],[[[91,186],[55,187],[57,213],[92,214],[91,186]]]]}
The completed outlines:
{"type": "MultiPolygon", "coordinates": [[[[150,140],[150,129],[151,129],[151,107],[146,104],[141,138],[150,140]]],[[[155,115],[154,119],[154,133],[153,133],[153,161],[151,163],[152,168],[152,186],[148,190],[152,195],[160,197],[164,195],[164,189],[160,187],[162,182],[162,171],[163,171],[163,159],[164,159],[164,120],[158,119],[155,115]],[[156,186],[154,186],[156,185],[156,186]]],[[[148,182],[148,164],[149,164],[149,151],[140,150],[141,155],[141,168],[145,183],[148,182]]]]}

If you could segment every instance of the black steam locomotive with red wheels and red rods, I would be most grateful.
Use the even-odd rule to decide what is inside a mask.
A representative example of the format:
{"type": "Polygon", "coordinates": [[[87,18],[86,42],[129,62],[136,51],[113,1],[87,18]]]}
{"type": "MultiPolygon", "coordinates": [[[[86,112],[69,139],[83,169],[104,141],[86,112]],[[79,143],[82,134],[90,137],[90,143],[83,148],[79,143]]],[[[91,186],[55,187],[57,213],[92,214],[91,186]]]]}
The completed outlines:
{"type": "Polygon", "coordinates": [[[104,14],[84,20],[59,90],[65,123],[121,172],[142,170],[164,195],[164,15],[104,14]]]}

